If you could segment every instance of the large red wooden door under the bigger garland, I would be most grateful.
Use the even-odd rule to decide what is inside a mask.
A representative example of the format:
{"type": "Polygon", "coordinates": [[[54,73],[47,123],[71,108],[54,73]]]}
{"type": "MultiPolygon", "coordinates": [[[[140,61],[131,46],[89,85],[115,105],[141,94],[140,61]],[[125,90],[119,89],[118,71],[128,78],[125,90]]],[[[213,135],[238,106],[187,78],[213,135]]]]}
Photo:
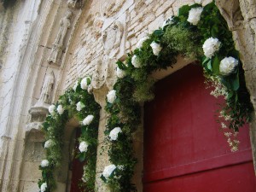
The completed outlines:
{"type": "Polygon", "coordinates": [[[248,128],[230,152],[205,88],[201,67],[189,65],[156,84],[144,107],[144,192],[255,192],[248,128]]]}

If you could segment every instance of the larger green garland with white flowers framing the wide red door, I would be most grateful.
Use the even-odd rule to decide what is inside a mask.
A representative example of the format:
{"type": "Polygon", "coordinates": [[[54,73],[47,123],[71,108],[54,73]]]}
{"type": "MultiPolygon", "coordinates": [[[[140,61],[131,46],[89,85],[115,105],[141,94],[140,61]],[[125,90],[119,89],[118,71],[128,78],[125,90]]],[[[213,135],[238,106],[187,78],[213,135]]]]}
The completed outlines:
{"type": "Polygon", "coordinates": [[[184,5],[177,16],[137,43],[125,62],[117,61],[118,80],[107,96],[110,114],[105,131],[111,165],[102,172],[102,180],[111,191],[136,191],[131,183],[137,160],[132,151],[132,137],[140,125],[140,103],[154,98],[154,79],[149,74],[172,67],[177,55],[201,61],[213,96],[224,96],[219,123],[230,144],[238,149],[239,128],[250,121],[253,111],[244,81],[244,72],[232,34],[215,3],[184,5]],[[229,129],[228,129],[229,128],[229,129]]]}

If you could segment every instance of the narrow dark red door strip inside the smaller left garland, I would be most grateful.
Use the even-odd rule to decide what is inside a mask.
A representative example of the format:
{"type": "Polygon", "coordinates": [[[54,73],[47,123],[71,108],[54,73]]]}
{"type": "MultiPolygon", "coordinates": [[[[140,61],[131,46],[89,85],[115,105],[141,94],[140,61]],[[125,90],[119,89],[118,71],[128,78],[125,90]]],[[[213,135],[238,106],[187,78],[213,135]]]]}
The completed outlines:
{"type": "Polygon", "coordinates": [[[75,158],[76,154],[79,153],[79,141],[78,138],[81,135],[81,130],[78,128],[76,132],[76,143],[74,148],[74,158],[72,162],[72,179],[71,179],[71,187],[70,192],[80,192],[84,191],[84,189],[79,188],[79,183],[81,183],[81,178],[84,174],[84,162],[80,162],[78,159],[75,158]]]}

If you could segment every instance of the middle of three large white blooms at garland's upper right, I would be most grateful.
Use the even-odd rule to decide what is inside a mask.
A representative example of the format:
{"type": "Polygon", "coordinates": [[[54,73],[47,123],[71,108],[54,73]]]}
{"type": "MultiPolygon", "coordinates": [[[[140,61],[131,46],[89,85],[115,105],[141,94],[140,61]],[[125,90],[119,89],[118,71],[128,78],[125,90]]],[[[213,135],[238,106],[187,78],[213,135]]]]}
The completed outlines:
{"type": "Polygon", "coordinates": [[[204,54],[208,58],[212,58],[215,52],[218,51],[220,44],[221,43],[218,41],[218,38],[207,38],[207,40],[202,46],[204,54]]]}

